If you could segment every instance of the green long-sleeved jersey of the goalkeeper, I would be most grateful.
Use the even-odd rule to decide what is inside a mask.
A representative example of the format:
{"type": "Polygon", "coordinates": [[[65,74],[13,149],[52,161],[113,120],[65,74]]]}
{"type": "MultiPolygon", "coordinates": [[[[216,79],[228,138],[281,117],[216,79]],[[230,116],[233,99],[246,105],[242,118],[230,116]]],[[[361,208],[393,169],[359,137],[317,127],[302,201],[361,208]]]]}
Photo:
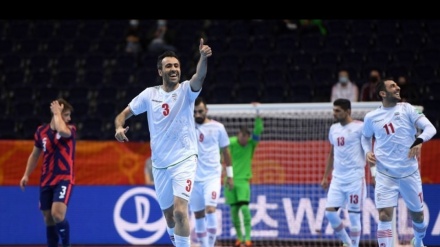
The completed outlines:
{"type": "Polygon", "coordinates": [[[260,135],[263,129],[263,119],[256,117],[252,136],[249,138],[246,146],[241,146],[238,143],[237,136],[229,138],[229,150],[231,152],[234,180],[252,178],[252,158],[254,157],[254,152],[260,141],[260,135]]]}

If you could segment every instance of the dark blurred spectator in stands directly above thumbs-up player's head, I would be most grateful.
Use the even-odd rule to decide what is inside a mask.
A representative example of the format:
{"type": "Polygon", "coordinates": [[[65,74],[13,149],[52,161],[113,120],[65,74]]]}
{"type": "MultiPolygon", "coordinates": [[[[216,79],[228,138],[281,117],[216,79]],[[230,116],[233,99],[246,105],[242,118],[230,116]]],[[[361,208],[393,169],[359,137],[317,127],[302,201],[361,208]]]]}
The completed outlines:
{"type": "Polygon", "coordinates": [[[157,26],[153,32],[152,39],[148,44],[148,51],[155,54],[167,50],[176,51],[176,47],[169,43],[170,36],[168,33],[167,21],[163,19],[157,20],[157,26]]]}

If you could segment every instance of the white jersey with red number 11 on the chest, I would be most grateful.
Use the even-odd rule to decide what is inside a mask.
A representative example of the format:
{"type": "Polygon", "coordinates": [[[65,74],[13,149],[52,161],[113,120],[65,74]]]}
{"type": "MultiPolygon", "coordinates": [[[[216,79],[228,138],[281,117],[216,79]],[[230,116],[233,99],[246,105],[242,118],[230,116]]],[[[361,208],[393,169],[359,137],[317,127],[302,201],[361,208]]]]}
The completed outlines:
{"type": "Polygon", "coordinates": [[[391,177],[406,177],[419,165],[417,158],[408,158],[417,134],[416,121],[424,116],[409,103],[379,107],[365,115],[363,135],[374,136],[377,171],[391,177]]]}

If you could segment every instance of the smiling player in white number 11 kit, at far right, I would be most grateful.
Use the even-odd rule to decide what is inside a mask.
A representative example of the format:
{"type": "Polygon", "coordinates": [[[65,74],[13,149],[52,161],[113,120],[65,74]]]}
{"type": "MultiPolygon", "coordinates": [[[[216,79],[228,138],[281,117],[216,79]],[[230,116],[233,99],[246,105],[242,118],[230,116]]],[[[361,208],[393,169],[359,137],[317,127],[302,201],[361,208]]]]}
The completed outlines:
{"type": "Polygon", "coordinates": [[[407,102],[399,102],[400,87],[392,80],[379,81],[376,94],[382,106],[364,118],[362,146],[368,163],[376,165],[375,203],[379,212],[377,242],[391,246],[393,208],[402,196],[412,218],[412,246],[423,246],[427,224],[423,213],[423,190],[418,156],[422,143],[437,132],[423,113],[407,102]],[[417,135],[417,129],[423,132],[417,135]],[[374,150],[372,137],[374,136],[374,150]]]}

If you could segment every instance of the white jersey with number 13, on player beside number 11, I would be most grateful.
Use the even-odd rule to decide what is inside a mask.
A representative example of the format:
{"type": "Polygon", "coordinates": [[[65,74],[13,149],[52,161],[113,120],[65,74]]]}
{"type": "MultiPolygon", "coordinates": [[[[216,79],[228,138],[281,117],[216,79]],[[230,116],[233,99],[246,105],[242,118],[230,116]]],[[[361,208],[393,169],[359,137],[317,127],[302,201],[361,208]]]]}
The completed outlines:
{"type": "Polygon", "coordinates": [[[364,123],[353,120],[342,126],[334,123],[329,130],[329,141],[333,145],[332,179],[339,182],[352,182],[365,175],[365,154],[362,149],[362,128],[364,123]]]}

